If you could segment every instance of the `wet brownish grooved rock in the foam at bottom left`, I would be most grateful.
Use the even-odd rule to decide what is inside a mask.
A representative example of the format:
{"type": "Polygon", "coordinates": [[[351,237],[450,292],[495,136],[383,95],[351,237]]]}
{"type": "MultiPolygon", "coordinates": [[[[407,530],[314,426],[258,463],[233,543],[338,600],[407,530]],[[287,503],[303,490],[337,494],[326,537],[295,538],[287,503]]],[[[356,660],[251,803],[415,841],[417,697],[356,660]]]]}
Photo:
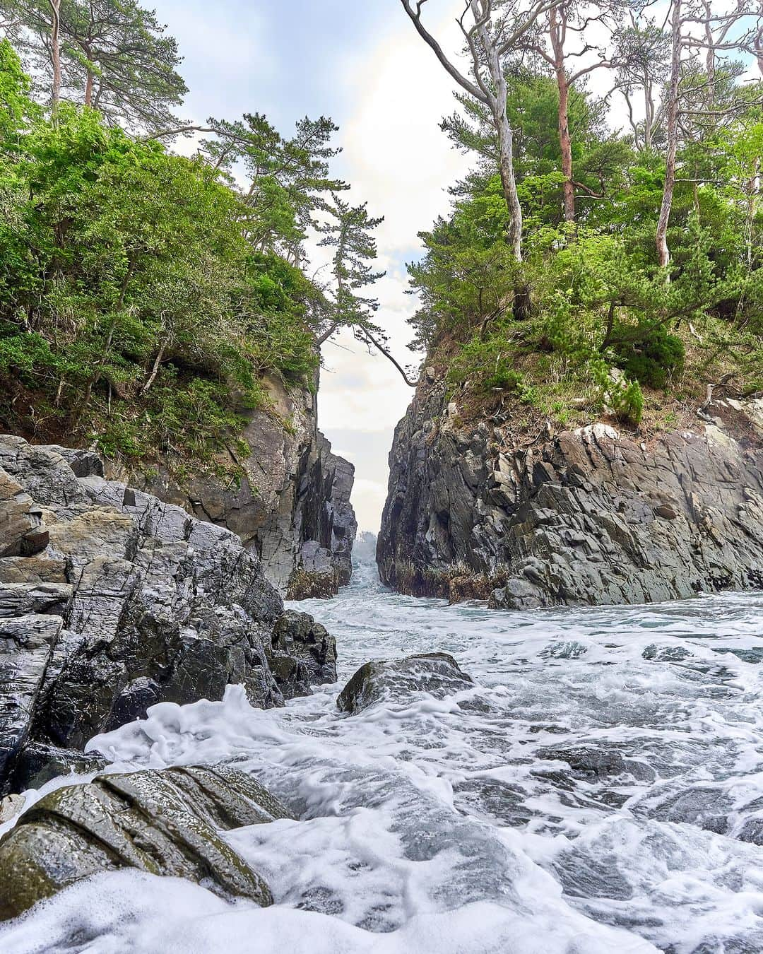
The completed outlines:
{"type": "Polygon", "coordinates": [[[0,841],[0,920],[122,867],[272,904],[268,885],[218,830],[288,818],[258,782],[224,766],[108,775],[55,789],[0,841]]]}

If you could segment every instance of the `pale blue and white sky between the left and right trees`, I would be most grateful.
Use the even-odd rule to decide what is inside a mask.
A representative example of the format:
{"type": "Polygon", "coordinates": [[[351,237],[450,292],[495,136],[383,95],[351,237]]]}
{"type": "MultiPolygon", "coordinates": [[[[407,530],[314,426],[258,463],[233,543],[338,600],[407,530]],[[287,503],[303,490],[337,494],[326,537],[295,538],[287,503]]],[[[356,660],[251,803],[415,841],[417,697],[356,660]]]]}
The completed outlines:
{"type": "MultiPolygon", "coordinates": [[[[154,0],[178,41],[190,93],[184,117],[264,113],[282,133],[304,116],[331,116],[342,153],[334,172],[354,204],[384,216],[377,230],[377,320],[402,364],[415,360],[405,324],[405,263],[421,254],[418,233],[447,211],[447,187],[466,169],[439,129],[453,112],[452,80],[423,44],[399,0],[154,0]]],[[[458,4],[433,0],[429,23],[458,47],[458,4]]],[[[314,267],[320,267],[316,257],[314,267]]],[[[351,336],[323,345],[319,425],[356,467],[353,504],[361,529],[376,530],[394,427],[412,391],[381,355],[351,336]]]]}

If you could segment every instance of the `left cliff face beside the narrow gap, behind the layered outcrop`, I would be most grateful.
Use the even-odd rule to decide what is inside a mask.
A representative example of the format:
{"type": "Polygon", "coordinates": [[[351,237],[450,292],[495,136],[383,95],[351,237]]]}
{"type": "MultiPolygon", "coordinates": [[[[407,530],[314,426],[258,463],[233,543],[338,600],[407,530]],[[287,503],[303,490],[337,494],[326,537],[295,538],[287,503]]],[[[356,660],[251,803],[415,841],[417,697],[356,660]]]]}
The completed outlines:
{"type": "Polygon", "coordinates": [[[287,391],[277,378],[263,384],[271,407],[247,412],[241,435],[251,453],[244,457],[229,446],[221,462],[239,469],[239,481],[192,475],[183,484],[162,470],[149,478],[115,476],[232,530],[257,552],[281,595],[331,596],[352,572],[354,467],[332,454],[320,433],[315,389],[287,391]]]}

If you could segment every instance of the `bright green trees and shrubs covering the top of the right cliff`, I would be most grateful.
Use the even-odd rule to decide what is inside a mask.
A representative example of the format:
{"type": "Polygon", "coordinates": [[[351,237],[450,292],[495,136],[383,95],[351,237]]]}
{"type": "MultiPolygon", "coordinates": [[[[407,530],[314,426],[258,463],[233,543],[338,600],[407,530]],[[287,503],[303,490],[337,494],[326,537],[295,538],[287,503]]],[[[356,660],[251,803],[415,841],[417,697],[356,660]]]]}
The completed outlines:
{"type": "MultiPolygon", "coordinates": [[[[647,40],[656,42],[624,38],[629,82],[651,55],[647,40]]],[[[525,221],[525,260],[516,265],[505,243],[491,123],[480,104],[461,97],[466,119],[451,117],[443,128],[480,165],[453,190],[450,216],[422,233],[423,258],[408,266],[421,305],[409,321],[411,347],[436,353],[443,345],[450,383],[464,393],[483,402],[511,395],[561,423],[575,392],[585,396],[576,407],[598,402],[638,426],[650,403],[659,410],[662,392],[675,386],[702,400],[706,383],[723,374],[747,391],[760,387],[763,125],[751,93],[726,74],[717,83],[719,104],[741,98],[751,106],[720,126],[703,120],[681,146],[670,275],[657,267],[654,240],[661,151],[609,135],[601,104],[578,91],[570,104],[578,207],[570,229],[562,218],[556,88],[537,76],[514,77],[509,87],[525,221]],[[518,288],[530,302],[519,319],[518,288]]]]}

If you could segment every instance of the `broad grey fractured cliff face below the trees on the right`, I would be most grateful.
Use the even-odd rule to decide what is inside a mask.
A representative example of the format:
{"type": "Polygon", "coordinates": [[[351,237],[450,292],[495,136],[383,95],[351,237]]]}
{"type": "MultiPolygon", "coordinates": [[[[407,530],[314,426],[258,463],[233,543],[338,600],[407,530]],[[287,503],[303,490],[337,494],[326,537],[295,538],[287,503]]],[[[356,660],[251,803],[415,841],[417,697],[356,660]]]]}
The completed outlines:
{"type": "Polygon", "coordinates": [[[390,453],[382,580],[506,608],[763,587],[763,401],[711,414],[649,444],[604,424],[523,442],[424,381],[390,453]]]}

